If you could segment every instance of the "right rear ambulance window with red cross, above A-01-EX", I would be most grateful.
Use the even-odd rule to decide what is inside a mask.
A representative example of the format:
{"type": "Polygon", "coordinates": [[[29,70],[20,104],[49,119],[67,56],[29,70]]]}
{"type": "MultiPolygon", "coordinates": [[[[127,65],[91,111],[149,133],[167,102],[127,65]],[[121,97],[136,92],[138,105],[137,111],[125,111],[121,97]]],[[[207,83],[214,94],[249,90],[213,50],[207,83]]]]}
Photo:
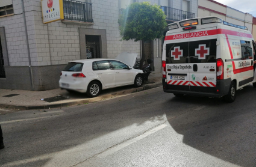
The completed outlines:
{"type": "Polygon", "coordinates": [[[190,63],[216,62],[217,39],[189,42],[190,63]]]}

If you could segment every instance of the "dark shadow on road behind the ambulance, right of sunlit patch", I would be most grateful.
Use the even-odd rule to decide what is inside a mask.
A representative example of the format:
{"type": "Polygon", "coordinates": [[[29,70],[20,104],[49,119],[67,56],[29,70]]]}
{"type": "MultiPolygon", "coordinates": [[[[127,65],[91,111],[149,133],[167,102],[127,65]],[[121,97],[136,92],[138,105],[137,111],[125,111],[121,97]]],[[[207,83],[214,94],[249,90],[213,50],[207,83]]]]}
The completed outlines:
{"type": "Polygon", "coordinates": [[[221,98],[173,97],[164,103],[172,108],[166,116],[173,129],[184,136],[184,144],[236,165],[256,166],[255,92],[252,85],[237,91],[234,103],[221,98]],[[192,104],[199,107],[189,108],[192,104]]]}

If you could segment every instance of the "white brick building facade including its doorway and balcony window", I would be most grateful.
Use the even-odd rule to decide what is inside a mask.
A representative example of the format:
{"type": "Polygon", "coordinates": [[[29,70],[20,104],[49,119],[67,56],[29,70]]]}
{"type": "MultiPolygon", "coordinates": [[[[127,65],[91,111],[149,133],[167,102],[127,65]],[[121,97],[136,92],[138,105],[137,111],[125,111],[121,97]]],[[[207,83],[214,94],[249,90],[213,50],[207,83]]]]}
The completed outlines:
{"type": "MultiPolygon", "coordinates": [[[[57,0],[53,0],[57,1],[57,0]]],[[[120,41],[117,20],[123,0],[63,0],[64,20],[43,24],[41,0],[0,1],[0,88],[58,88],[67,62],[116,58],[121,52],[142,55],[140,42],[120,41]]],[[[161,5],[168,23],[197,17],[197,0],[152,0],[161,5]]],[[[162,40],[148,43],[147,58],[161,71],[162,40]]]]}

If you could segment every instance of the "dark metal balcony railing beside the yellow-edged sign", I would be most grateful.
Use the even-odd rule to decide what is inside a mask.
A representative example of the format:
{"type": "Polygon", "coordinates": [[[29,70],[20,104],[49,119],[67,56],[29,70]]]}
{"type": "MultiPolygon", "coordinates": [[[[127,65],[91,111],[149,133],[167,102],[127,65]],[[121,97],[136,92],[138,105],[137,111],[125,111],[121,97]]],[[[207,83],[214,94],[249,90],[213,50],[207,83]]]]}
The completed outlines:
{"type": "Polygon", "coordinates": [[[92,4],[87,2],[63,0],[64,20],[92,22],[92,4]]]}

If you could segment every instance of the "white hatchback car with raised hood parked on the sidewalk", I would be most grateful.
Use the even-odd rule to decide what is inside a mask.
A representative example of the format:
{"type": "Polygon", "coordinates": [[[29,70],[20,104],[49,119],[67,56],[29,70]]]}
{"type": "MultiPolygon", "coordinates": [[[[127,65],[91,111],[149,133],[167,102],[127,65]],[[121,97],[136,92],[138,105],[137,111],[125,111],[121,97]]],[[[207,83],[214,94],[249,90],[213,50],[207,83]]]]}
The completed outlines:
{"type": "MultiPolygon", "coordinates": [[[[135,62],[135,61],[134,61],[135,62]]],[[[60,74],[60,88],[96,97],[101,90],[143,83],[143,71],[117,59],[80,59],[70,61],[60,74]]]]}

